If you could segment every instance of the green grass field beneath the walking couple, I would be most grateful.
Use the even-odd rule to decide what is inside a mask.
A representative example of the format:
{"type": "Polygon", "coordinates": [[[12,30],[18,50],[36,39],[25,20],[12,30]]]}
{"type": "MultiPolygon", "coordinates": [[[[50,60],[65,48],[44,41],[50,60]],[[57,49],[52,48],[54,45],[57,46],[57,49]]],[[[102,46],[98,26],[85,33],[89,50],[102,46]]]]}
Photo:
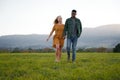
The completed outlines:
{"type": "Polygon", "coordinates": [[[66,57],[56,63],[54,53],[0,54],[0,80],[120,80],[119,53],[77,53],[76,63],[66,57]]]}

